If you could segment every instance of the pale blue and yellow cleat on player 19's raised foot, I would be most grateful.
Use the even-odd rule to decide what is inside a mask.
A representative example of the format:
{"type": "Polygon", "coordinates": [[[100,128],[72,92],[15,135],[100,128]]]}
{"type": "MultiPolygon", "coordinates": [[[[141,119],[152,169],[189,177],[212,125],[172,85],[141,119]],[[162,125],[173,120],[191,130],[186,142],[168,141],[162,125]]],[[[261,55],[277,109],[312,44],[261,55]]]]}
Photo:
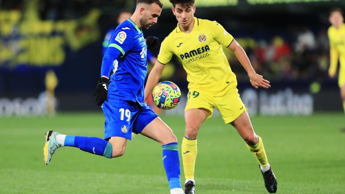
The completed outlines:
{"type": "Polygon", "coordinates": [[[46,144],[43,147],[44,163],[46,165],[49,164],[56,150],[61,147],[61,144],[56,140],[56,135],[58,134],[56,131],[48,131],[46,133],[46,144]]]}

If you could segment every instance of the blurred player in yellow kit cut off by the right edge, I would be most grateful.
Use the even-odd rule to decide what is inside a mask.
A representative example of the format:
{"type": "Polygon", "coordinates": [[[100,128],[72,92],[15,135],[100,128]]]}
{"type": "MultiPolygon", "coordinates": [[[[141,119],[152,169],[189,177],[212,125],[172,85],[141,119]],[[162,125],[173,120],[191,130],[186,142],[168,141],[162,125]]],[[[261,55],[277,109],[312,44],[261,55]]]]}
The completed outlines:
{"type": "Polygon", "coordinates": [[[343,11],[339,8],[331,10],[329,22],[331,22],[332,26],[328,28],[331,58],[331,65],[329,66],[328,74],[329,77],[334,78],[339,60],[340,68],[338,85],[345,112],[345,23],[343,11]]]}

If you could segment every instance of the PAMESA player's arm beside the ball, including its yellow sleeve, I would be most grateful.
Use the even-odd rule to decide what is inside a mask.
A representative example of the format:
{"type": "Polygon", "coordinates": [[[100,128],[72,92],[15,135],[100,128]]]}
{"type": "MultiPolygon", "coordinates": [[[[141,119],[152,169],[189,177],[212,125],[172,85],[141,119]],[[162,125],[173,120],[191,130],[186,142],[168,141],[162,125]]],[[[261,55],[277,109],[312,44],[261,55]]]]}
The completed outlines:
{"type": "Polygon", "coordinates": [[[165,64],[167,64],[172,57],[172,51],[170,49],[171,47],[170,47],[169,40],[170,40],[169,37],[163,40],[160,46],[160,50],[159,50],[159,54],[158,54],[158,58],[155,63],[155,66],[152,68],[147,78],[147,82],[145,85],[145,94],[144,94],[145,103],[149,95],[152,93],[153,88],[158,83],[159,78],[162,75],[162,71],[165,67],[165,64]]]}

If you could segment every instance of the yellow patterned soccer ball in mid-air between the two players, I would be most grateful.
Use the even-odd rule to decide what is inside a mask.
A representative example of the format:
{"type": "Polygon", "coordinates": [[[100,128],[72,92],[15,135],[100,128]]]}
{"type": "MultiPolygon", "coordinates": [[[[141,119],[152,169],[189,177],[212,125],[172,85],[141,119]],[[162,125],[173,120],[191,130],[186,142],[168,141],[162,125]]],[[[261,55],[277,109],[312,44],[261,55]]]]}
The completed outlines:
{"type": "Polygon", "coordinates": [[[171,81],[162,81],[153,89],[152,99],[158,108],[170,110],[175,108],[180,102],[181,91],[171,81]]]}

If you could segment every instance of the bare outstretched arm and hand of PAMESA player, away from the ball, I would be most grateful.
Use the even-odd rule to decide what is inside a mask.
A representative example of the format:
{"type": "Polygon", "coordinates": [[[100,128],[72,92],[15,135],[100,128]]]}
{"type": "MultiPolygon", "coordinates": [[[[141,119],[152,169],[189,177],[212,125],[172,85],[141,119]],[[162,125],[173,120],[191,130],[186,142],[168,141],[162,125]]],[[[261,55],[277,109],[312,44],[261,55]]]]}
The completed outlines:
{"type": "Polygon", "coordinates": [[[234,52],[238,61],[246,69],[249,76],[250,83],[252,84],[254,88],[271,87],[269,85],[269,81],[264,79],[262,75],[259,75],[255,72],[254,68],[252,67],[252,64],[250,64],[250,61],[247,57],[246,52],[243,50],[243,48],[239,45],[239,43],[235,39],[230,43],[230,45],[227,48],[234,52]]]}

